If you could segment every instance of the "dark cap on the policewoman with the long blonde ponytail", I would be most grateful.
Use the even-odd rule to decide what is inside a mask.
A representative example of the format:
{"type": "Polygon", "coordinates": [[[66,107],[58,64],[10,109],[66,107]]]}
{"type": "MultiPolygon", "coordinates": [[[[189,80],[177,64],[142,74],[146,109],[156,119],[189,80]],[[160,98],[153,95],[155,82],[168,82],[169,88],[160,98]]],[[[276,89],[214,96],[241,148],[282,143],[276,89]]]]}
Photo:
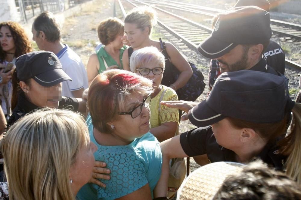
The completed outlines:
{"type": "Polygon", "coordinates": [[[191,109],[188,117],[198,127],[209,126],[226,117],[272,123],[281,121],[292,109],[292,103],[284,76],[240,70],[222,73],[207,99],[191,109]]]}

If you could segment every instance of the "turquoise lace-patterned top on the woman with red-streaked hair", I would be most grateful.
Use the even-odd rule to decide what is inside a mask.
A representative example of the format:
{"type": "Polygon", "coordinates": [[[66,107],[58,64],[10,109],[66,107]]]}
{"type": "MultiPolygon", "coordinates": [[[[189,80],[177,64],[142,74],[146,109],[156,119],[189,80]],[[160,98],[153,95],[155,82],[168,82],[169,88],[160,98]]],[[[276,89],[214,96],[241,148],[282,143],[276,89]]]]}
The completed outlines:
{"type": "Polygon", "coordinates": [[[95,160],[104,161],[111,170],[111,179],[100,179],[106,188],[85,184],[77,194],[81,200],[117,199],[126,196],[147,183],[153,192],[161,175],[162,154],[158,140],[150,132],[125,146],[99,145],[93,135],[91,117],[87,118],[90,139],[98,146],[95,160]]]}

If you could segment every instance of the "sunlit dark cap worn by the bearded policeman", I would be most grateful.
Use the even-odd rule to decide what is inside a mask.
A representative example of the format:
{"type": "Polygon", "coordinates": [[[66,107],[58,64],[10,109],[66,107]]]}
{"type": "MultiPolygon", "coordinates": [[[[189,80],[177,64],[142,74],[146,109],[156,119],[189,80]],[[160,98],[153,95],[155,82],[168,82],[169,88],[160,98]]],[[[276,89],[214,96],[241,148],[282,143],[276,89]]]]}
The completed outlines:
{"type": "Polygon", "coordinates": [[[265,44],[272,37],[270,14],[256,6],[234,7],[219,14],[209,37],[197,50],[206,58],[218,58],[238,44],[265,44]]]}

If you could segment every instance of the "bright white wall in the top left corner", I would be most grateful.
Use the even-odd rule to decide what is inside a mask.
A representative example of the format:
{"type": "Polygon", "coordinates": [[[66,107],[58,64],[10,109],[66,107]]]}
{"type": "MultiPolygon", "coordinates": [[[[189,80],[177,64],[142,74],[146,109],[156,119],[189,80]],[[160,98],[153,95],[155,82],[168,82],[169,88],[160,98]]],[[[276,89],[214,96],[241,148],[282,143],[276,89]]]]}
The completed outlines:
{"type": "Polygon", "coordinates": [[[0,22],[3,21],[20,21],[20,14],[17,12],[15,1],[0,0],[0,22]]]}

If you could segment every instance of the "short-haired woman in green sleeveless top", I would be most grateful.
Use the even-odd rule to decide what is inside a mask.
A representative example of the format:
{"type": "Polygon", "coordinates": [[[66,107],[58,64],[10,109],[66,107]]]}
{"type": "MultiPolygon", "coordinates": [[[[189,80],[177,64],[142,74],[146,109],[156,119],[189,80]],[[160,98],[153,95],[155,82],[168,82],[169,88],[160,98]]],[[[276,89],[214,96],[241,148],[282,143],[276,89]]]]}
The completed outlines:
{"type": "Polygon", "coordinates": [[[98,38],[104,45],[93,53],[87,64],[87,75],[89,84],[98,73],[109,69],[123,69],[122,55],[127,48],[123,42],[124,24],[116,17],[110,17],[100,22],[98,38]]]}

